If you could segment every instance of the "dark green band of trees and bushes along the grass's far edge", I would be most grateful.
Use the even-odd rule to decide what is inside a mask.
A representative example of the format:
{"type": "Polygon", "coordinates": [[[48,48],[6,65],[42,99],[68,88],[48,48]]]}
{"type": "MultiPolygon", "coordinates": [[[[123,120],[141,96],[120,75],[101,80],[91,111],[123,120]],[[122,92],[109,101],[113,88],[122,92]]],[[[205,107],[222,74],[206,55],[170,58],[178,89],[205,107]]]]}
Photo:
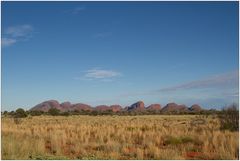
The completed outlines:
{"type": "Polygon", "coordinates": [[[12,117],[17,120],[17,118],[25,118],[27,116],[40,116],[40,115],[50,115],[50,116],[71,116],[71,115],[118,115],[118,116],[136,116],[136,115],[216,115],[220,121],[221,130],[238,131],[239,130],[239,110],[236,104],[232,104],[223,108],[222,110],[202,110],[199,112],[164,112],[160,110],[144,110],[144,111],[117,111],[112,110],[106,111],[85,111],[85,110],[74,110],[61,112],[59,109],[50,108],[48,112],[43,111],[25,111],[22,108],[18,108],[16,111],[4,111],[2,112],[3,117],[12,117]]]}

